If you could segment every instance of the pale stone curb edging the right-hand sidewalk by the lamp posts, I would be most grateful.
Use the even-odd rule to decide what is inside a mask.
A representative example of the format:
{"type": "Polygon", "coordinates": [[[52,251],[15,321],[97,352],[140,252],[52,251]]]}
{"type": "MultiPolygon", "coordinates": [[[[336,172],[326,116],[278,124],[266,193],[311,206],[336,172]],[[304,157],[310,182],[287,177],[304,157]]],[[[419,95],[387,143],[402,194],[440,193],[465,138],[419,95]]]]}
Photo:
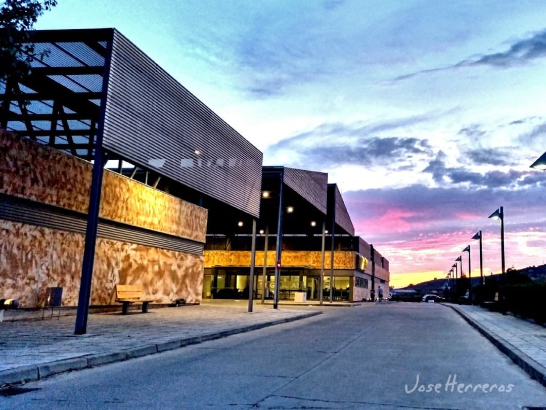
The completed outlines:
{"type": "Polygon", "coordinates": [[[525,353],[521,352],[520,349],[508,343],[502,337],[494,334],[489,329],[486,329],[484,326],[473,320],[466,313],[459,310],[456,306],[444,305],[452,308],[455,312],[466,320],[473,328],[477,329],[482,335],[484,335],[494,346],[499,349],[502,353],[506,354],[512,361],[517,364],[521,369],[523,369],[529,376],[533,379],[536,379],[544,387],[546,387],[546,369],[537,363],[535,360],[531,359],[525,353]]]}

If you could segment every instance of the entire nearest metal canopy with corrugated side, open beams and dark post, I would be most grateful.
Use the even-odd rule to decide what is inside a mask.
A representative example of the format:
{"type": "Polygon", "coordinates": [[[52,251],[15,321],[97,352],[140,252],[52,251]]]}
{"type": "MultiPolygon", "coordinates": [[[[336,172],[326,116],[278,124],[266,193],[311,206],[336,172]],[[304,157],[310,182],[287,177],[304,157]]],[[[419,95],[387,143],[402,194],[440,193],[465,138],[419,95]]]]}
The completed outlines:
{"type": "Polygon", "coordinates": [[[116,29],[29,35],[45,57],[25,78],[0,81],[0,128],[93,162],[75,330],[84,334],[108,161],[152,174],[154,187],[163,178],[219,223],[258,217],[262,152],[116,29]]]}

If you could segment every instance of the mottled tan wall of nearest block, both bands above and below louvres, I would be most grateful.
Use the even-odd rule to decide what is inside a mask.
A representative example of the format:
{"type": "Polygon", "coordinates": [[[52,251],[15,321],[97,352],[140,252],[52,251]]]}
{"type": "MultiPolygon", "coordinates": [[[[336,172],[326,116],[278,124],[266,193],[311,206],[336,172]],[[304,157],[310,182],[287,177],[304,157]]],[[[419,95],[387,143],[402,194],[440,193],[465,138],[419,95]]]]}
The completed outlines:
{"type": "MultiPolygon", "coordinates": [[[[0,132],[0,193],[87,212],[92,165],[28,139],[0,132]]],[[[100,216],[205,241],[207,211],[105,170],[100,216]]],[[[85,236],[0,219],[0,298],[43,306],[45,288],[63,288],[76,306],[85,236]]],[[[203,255],[97,238],[91,305],[115,304],[117,283],[144,285],[156,303],[199,303],[203,255]]]]}

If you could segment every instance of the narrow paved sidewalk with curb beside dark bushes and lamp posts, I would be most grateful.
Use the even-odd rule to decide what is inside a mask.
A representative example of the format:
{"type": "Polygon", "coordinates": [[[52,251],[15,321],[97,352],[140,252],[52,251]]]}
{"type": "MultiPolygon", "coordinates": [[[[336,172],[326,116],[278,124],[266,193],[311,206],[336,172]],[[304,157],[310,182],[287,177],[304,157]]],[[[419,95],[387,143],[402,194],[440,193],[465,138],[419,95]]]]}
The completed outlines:
{"type": "Polygon", "coordinates": [[[453,308],[514,363],[546,386],[546,328],[479,306],[444,305],[453,308]]]}

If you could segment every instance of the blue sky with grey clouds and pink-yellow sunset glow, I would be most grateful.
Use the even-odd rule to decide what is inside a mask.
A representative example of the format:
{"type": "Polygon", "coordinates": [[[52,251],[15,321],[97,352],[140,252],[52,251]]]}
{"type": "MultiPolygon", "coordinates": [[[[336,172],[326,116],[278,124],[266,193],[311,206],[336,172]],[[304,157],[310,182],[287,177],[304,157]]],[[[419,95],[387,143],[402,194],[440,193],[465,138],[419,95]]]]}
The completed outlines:
{"type": "Polygon", "coordinates": [[[264,153],[328,173],[391,286],[546,263],[543,0],[58,0],[115,27],[264,153]],[[459,268],[460,273],[460,268],[459,268]]]}

